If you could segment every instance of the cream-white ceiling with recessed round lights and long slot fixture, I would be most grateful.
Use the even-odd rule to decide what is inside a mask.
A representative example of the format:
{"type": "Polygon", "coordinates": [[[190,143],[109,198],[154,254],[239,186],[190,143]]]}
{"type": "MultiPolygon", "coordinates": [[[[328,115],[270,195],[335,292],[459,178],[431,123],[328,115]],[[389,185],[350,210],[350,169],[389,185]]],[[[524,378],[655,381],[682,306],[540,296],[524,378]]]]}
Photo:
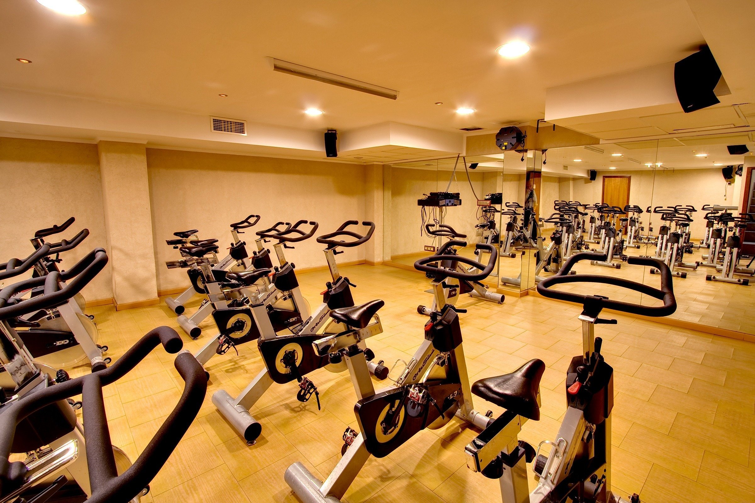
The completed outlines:
{"type": "MultiPolygon", "coordinates": [[[[0,104],[18,105],[12,117],[0,106],[0,133],[54,137],[58,130],[57,136],[79,140],[141,135],[156,146],[265,154],[279,148],[281,155],[298,149],[322,158],[322,147],[310,144],[316,140],[312,133],[327,127],[341,132],[390,121],[435,130],[497,130],[542,118],[549,87],[680,60],[708,38],[687,0],[543,0],[516,8],[500,0],[81,2],[88,9],[82,17],[60,16],[35,0],[0,2],[0,104]],[[498,57],[495,48],[513,38],[528,41],[532,51],[519,60],[498,57]],[[17,57],[33,63],[18,63],[17,57]],[[390,87],[399,98],[273,72],[267,57],[390,87]],[[23,102],[17,99],[21,91],[23,102]],[[17,94],[11,98],[11,92],[17,94]],[[41,100],[35,97],[44,97],[45,109],[32,110],[41,100]],[[58,115],[70,124],[53,124],[44,111],[64,100],[68,108],[58,115]],[[120,107],[118,115],[128,116],[129,124],[94,124],[63,113],[82,103],[102,117],[120,107]],[[457,115],[459,106],[477,112],[457,115]],[[309,107],[325,114],[304,115],[309,107]],[[192,136],[154,126],[158,115],[165,117],[160,124],[190,115],[203,121],[210,115],[239,118],[260,130],[270,126],[265,135],[271,138],[299,134],[307,145],[275,143],[267,136],[266,141],[192,136]],[[229,146],[233,141],[245,145],[229,146]]],[[[726,0],[732,9],[736,3],[726,0]]],[[[726,30],[707,24],[716,34],[726,30]]],[[[720,47],[731,43],[729,35],[716,36],[723,40],[720,47]]],[[[735,60],[719,54],[716,59],[727,64],[735,60]]],[[[739,64],[747,69],[732,78],[725,71],[735,93],[744,92],[742,81],[753,66],[751,60],[739,64]]],[[[349,152],[344,160],[368,161],[371,155],[370,161],[392,162],[401,147],[411,146],[349,152]],[[355,159],[360,156],[365,160],[355,159]]],[[[429,157],[440,151],[407,153],[429,157]]]]}

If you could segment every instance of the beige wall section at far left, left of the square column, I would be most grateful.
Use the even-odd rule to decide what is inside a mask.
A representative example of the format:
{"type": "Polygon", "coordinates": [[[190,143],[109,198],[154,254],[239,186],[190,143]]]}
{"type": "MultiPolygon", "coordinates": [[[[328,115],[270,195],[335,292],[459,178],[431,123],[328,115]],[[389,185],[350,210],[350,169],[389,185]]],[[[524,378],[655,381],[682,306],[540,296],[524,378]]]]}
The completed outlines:
{"type": "MultiPolygon", "coordinates": [[[[0,178],[6,210],[0,219],[0,262],[29,256],[34,250],[29,239],[36,230],[63,223],[70,216],[76,219],[73,225],[50,241],[72,238],[82,228],[88,228],[90,235],[61,255],[61,268],[69,268],[95,247],[106,247],[96,145],[0,137],[0,178]]],[[[112,298],[110,278],[108,264],[85,287],[86,299],[112,298]]]]}

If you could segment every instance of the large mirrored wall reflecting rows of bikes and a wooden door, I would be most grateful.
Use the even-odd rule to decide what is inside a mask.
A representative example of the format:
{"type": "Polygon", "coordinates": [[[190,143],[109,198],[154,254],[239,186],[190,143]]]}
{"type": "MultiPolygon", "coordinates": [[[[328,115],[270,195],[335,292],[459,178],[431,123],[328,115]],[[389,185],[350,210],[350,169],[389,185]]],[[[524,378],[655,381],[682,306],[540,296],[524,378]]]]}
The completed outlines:
{"type": "MultiPolygon", "coordinates": [[[[464,235],[461,255],[485,262],[476,244],[495,245],[486,283],[516,296],[584,250],[606,259],[580,262],[579,273],[659,287],[658,271],[636,262],[655,257],[673,271],[671,318],[755,334],[750,149],[747,135],[704,135],[393,164],[392,262],[408,268],[433,253],[453,238],[432,232],[447,225],[464,235]],[[461,204],[419,205],[431,192],[458,194],[461,204]]],[[[563,288],[660,305],[620,288],[563,288]]]]}

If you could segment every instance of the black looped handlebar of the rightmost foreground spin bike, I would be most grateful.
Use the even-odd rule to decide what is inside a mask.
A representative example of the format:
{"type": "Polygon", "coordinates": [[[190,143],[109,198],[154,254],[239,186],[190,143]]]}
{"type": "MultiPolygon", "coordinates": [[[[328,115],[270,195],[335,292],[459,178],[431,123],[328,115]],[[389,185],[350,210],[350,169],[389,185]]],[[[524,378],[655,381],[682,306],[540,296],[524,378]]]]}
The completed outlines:
{"type": "Polygon", "coordinates": [[[595,299],[599,299],[600,305],[603,308],[613,309],[614,311],[621,311],[625,313],[641,314],[643,316],[661,317],[673,314],[676,311],[676,298],[673,296],[673,278],[671,271],[664,262],[658,259],[643,258],[639,256],[630,256],[627,262],[635,265],[648,265],[652,268],[658,269],[661,275],[661,289],[653,288],[649,285],[637,283],[636,281],[625,280],[624,278],[615,278],[614,276],[603,275],[569,275],[569,271],[577,262],[581,260],[597,260],[599,262],[606,261],[607,256],[605,253],[590,253],[582,252],[575,253],[569,259],[566,260],[563,267],[558,271],[556,275],[545,278],[538,283],[538,293],[541,296],[548,297],[550,299],[565,300],[567,302],[575,302],[576,304],[585,305],[586,303],[595,302],[595,299]],[[562,283],[602,283],[610,284],[615,287],[628,288],[635,292],[644,293],[651,296],[654,299],[663,301],[664,305],[658,307],[650,307],[646,305],[632,304],[630,302],[621,302],[618,300],[604,299],[602,297],[582,295],[580,293],[564,292],[559,290],[551,290],[557,284],[562,283]]]}

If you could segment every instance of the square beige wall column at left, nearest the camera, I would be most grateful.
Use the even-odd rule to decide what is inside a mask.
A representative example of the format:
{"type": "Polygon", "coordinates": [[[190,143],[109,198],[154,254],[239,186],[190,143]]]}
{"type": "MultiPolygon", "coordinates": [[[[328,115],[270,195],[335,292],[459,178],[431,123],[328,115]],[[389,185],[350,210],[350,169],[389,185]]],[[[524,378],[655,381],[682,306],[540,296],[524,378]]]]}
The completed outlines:
{"type": "Polygon", "coordinates": [[[157,304],[146,147],[100,141],[97,150],[116,309],[157,304]]]}

